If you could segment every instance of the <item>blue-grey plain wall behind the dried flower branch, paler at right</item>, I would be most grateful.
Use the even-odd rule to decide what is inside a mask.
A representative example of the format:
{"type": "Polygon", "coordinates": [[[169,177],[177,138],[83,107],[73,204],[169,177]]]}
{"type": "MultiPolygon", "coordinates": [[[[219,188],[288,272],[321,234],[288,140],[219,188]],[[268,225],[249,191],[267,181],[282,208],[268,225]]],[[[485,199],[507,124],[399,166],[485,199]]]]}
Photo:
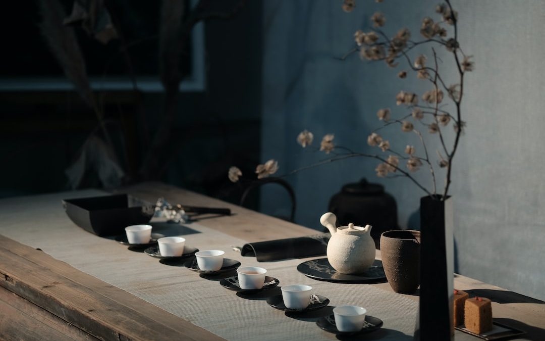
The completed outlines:
{"type": "MultiPolygon", "coordinates": [[[[353,46],[353,33],[370,27],[377,10],[387,17],[386,32],[408,27],[413,37],[423,16],[437,19],[436,2],[358,1],[344,13],[341,1],[264,2],[263,161],[275,158],[279,173],[322,159],[300,148],[295,137],[313,131],[316,141],[335,133],[335,141],[362,152],[376,151],[366,137],[378,127],[376,111],[395,105],[401,89],[422,93],[429,85],[383,63],[362,62],[357,55],[339,61],[353,46]]],[[[453,162],[452,195],[456,211],[458,271],[470,277],[545,299],[545,2],[453,0],[459,11],[459,40],[475,56],[467,74],[463,103],[467,132],[453,162]]],[[[429,53],[429,50],[422,52],[429,53]]],[[[455,83],[450,55],[441,53],[443,75],[455,83]]],[[[450,129],[449,129],[450,130],[450,129]]],[[[398,128],[387,134],[392,146],[417,140],[398,128]]],[[[447,136],[449,139],[451,136],[447,136]]],[[[437,136],[428,143],[435,150],[437,136]]],[[[298,198],[298,223],[319,229],[320,214],[342,184],[365,176],[386,186],[398,202],[399,224],[416,227],[423,195],[407,179],[381,180],[376,161],[354,159],[288,177],[298,198]],[[409,223],[410,220],[410,223],[409,223]]],[[[417,173],[429,184],[429,173],[417,173]]],[[[441,176],[439,176],[441,178],[441,176]]],[[[441,185],[441,181],[439,183],[441,185]]],[[[262,206],[274,213],[284,199],[264,187],[262,206]]]]}

